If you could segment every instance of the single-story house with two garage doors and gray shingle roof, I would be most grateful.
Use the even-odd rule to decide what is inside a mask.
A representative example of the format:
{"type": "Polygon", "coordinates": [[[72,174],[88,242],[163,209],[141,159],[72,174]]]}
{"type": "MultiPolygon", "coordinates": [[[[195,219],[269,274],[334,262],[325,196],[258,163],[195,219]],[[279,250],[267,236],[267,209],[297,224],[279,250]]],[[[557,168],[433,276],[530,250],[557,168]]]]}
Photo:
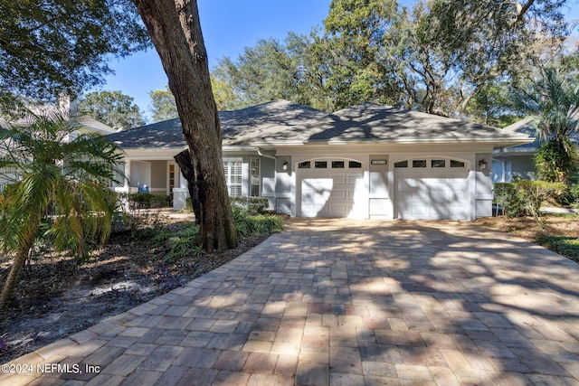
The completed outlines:
{"type": "MultiPolygon", "coordinates": [[[[474,220],[491,215],[493,151],[527,135],[365,103],[326,113],[286,100],[220,112],[230,195],[265,197],[291,216],[474,220]]],[[[173,158],[179,119],[109,136],[125,152],[125,184],[185,203],[173,158]]]]}

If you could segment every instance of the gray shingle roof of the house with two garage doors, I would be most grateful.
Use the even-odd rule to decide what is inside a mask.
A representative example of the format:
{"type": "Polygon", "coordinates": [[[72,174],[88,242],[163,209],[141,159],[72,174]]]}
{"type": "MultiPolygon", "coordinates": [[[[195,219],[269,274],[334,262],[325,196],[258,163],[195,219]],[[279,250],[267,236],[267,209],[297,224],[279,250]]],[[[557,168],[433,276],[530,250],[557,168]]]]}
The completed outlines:
{"type": "MultiPolygon", "coordinates": [[[[527,136],[458,119],[364,103],[335,113],[287,100],[219,113],[223,146],[334,142],[527,142],[527,136]]],[[[122,148],[185,147],[178,118],[109,136],[122,148]]]]}

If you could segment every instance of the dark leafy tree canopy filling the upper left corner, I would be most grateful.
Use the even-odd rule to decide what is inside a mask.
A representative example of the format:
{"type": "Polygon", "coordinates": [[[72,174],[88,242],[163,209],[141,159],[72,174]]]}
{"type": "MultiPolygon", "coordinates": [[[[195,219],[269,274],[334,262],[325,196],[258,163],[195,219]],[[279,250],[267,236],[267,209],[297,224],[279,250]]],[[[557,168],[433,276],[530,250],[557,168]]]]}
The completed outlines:
{"type": "Polygon", "coordinates": [[[125,57],[148,45],[129,0],[2,1],[0,94],[74,97],[111,73],[110,55],[125,57]]]}

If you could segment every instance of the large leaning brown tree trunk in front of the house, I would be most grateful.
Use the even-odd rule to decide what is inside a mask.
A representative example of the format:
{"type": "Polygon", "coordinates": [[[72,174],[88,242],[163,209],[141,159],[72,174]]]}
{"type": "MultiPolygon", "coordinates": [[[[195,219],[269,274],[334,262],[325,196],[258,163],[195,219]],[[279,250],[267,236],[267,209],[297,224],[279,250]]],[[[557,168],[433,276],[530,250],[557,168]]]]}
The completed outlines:
{"type": "Polygon", "coordinates": [[[223,174],[222,135],[196,0],[133,0],[169,80],[193,157],[208,251],[233,248],[237,233],[223,174]]]}

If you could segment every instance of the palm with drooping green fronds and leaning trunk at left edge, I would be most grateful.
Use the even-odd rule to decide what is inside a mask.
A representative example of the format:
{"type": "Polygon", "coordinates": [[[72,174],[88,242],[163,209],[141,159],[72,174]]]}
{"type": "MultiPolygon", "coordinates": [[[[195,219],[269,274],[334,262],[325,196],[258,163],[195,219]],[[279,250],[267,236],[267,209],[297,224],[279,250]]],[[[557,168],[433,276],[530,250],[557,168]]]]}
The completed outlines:
{"type": "Polygon", "coordinates": [[[0,250],[14,259],[0,311],[44,222],[52,246],[81,259],[89,240],[109,237],[115,203],[108,184],[121,159],[106,139],[77,135],[79,123],[62,113],[27,111],[21,122],[0,127],[0,250]]]}

